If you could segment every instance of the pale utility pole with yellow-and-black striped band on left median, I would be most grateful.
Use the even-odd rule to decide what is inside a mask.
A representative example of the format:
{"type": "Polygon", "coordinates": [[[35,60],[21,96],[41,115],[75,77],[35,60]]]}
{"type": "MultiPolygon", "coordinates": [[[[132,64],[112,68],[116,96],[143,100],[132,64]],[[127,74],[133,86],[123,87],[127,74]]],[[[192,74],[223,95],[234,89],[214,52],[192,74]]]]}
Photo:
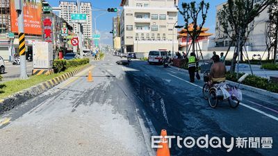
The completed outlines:
{"type": "Polygon", "coordinates": [[[20,79],[28,78],[26,72],[26,52],[25,52],[25,33],[24,33],[24,10],[23,1],[15,0],[15,9],[17,10],[17,24],[19,35],[19,56],[20,56],[20,79]]]}

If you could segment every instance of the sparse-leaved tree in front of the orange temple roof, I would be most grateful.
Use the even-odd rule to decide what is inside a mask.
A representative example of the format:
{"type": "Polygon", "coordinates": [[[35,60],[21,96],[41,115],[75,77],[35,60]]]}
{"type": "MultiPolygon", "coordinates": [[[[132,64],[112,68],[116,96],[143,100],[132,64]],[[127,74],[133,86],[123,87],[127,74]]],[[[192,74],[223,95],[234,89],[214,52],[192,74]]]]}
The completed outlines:
{"type": "Polygon", "coordinates": [[[185,22],[184,28],[192,39],[191,46],[193,47],[193,53],[195,53],[195,44],[206,22],[209,3],[205,3],[204,0],[202,0],[200,3],[196,3],[196,1],[192,1],[190,3],[183,2],[181,6],[182,9],[181,10],[179,9],[179,12],[181,13],[181,15],[183,15],[183,19],[185,22]],[[198,25],[198,21],[202,21],[201,24],[198,25]],[[188,30],[189,24],[193,24],[192,32],[188,30]]]}

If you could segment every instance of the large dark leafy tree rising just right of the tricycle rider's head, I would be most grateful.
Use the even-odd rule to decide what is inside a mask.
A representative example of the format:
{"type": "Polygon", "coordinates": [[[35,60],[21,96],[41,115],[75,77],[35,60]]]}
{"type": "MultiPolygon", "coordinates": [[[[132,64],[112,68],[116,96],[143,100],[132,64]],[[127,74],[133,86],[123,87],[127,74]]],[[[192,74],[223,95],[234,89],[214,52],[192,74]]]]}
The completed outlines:
{"type": "Polygon", "coordinates": [[[254,28],[254,22],[252,23],[252,21],[271,3],[273,3],[273,0],[262,0],[257,3],[254,0],[228,0],[223,5],[222,10],[218,12],[218,20],[220,26],[224,29],[224,33],[231,36],[237,44],[231,61],[231,73],[234,73],[236,58],[240,53],[243,53],[243,46],[245,46],[245,42],[254,28]]]}

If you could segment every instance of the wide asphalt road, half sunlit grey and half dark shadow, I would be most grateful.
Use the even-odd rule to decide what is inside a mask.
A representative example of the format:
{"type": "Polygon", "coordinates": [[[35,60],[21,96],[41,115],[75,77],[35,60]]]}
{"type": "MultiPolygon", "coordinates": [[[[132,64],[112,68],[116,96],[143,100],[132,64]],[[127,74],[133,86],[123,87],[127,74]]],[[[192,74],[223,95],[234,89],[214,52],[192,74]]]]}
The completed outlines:
{"type": "MultiPolygon", "coordinates": [[[[106,55],[92,62],[94,82],[85,73],[1,115],[0,155],[154,155],[150,136],[166,129],[181,137],[272,137],[272,149],[178,148],[171,155],[277,155],[277,100],[243,92],[232,109],[216,109],[202,98],[202,81],[188,73],[106,55]]],[[[236,140],[235,140],[236,141],[236,140]]],[[[228,144],[227,143],[227,144],[228,144]]]]}

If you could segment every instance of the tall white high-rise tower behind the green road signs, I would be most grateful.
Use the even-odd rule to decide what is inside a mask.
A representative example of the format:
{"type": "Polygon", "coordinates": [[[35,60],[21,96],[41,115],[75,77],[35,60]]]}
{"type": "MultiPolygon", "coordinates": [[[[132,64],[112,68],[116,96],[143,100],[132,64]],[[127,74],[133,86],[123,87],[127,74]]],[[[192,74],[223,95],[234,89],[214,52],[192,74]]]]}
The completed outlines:
{"type": "MultiPolygon", "coordinates": [[[[68,23],[72,23],[71,14],[78,13],[78,6],[76,1],[60,1],[60,17],[65,19],[68,23]]],[[[92,39],[92,3],[81,2],[80,13],[86,15],[86,23],[82,25],[82,33],[85,38],[92,39]]],[[[74,27],[74,33],[78,34],[78,24],[72,23],[74,27]]]]}

